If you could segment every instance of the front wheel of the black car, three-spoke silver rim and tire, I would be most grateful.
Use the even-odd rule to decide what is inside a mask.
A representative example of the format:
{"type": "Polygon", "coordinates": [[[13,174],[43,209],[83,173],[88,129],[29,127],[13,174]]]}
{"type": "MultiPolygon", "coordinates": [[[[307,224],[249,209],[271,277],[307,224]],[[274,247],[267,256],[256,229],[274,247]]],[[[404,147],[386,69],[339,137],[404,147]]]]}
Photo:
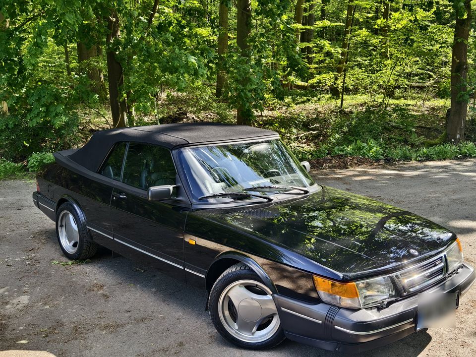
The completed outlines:
{"type": "Polygon", "coordinates": [[[271,294],[247,265],[232,266],[210,291],[209,312],[215,328],[242,348],[261,350],[279,345],[285,337],[271,294]]]}

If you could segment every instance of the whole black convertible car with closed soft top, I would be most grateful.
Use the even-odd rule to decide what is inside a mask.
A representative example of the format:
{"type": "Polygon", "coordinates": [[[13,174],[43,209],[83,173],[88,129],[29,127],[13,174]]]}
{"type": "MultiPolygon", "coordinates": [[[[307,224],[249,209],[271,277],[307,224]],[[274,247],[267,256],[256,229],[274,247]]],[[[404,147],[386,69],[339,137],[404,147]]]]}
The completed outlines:
{"type": "Polygon", "coordinates": [[[63,253],[86,259],[99,244],[201,284],[218,332],[241,347],[287,337],[364,351],[428,327],[441,306],[454,314],[475,281],[454,233],[315,183],[274,131],[113,129],[55,158],[33,202],[63,253]]]}

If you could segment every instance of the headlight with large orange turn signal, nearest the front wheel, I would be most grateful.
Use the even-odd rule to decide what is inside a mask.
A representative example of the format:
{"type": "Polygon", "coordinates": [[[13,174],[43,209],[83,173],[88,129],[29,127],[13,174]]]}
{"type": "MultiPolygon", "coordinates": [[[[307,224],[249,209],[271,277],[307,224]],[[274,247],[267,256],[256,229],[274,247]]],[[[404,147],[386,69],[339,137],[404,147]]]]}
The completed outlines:
{"type": "Polygon", "coordinates": [[[390,277],[379,277],[358,282],[341,283],[313,276],[314,285],[322,301],[347,308],[365,308],[395,297],[390,277]]]}

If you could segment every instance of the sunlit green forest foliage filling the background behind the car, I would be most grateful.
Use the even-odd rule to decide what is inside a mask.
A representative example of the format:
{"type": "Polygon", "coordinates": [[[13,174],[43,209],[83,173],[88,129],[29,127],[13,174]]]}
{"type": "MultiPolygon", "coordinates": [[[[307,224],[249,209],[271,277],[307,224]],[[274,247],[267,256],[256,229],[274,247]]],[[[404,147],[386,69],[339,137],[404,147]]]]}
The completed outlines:
{"type": "MultiPolygon", "coordinates": [[[[304,20],[311,13],[315,19],[309,26],[295,23],[296,0],[251,1],[249,46],[242,54],[237,9],[226,0],[229,46],[220,67],[227,78],[217,99],[220,1],[162,0],[152,18],[152,0],[0,0],[9,21],[9,26],[0,23],[0,101],[9,110],[0,115],[0,157],[28,158],[35,171],[51,159],[44,153],[78,146],[91,131],[111,126],[105,90],[95,91],[98,83],[90,78],[96,71],[107,82],[108,52],[123,69],[119,99],[135,125],[231,123],[240,108],[252,125],[279,132],[302,160],[474,156],[471,143],[432,145],[443,134],[454,23],[466,16],[465,1],[389,1],[388,19],[385,1],[354,1],[341,110],[328,93],[333,86],[342,88],[344,72],[336,72],[347,1],[305,1],[304,20]],[[113,10],[120,36],[107,41],[113,10]],[[313,36],[306,39],[309,33],[313,36]],[[80,61],[78,43],[98,56],[80,61]],[[290,91],[293,86],[307,89],[290,91]],[[442,101],[428,104],[435,97],[442,101]]],[[[467,99],[476,91],[474,36],[469,48],[469,90],[460,94],[467,99]]],[[[474,112],[470,140],[476,139],[474,112]]]]}

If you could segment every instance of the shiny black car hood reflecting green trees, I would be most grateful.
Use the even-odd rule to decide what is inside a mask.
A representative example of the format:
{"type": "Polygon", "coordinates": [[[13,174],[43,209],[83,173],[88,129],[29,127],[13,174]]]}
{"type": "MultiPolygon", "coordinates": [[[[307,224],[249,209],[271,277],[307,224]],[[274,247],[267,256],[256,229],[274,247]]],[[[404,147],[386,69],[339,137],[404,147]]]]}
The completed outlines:
{"type": "Polygon", "coordinates": [[[408,211],[325,186],[266,208],[208,212],[208,219],[349,276],[420,260],[455,239],[447,229],[408,211]]]}

